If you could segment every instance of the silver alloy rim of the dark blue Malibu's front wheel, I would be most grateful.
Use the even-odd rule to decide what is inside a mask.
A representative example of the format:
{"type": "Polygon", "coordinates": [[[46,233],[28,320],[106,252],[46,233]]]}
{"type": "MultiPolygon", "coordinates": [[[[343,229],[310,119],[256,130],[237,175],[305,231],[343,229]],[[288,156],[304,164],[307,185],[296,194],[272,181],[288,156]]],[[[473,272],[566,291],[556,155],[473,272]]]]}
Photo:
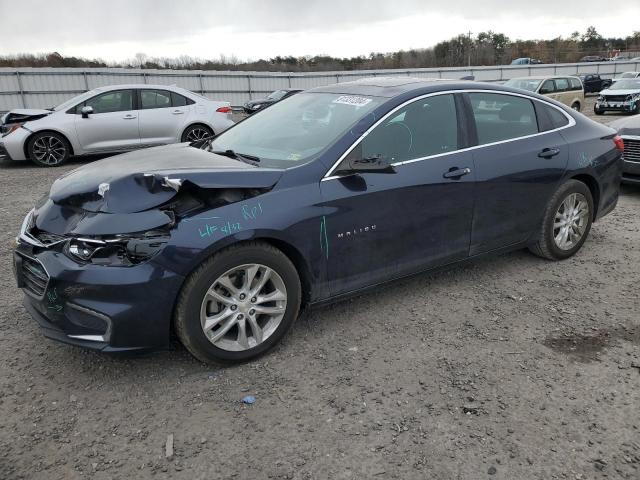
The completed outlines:
{"type": "Polygon", "coordinates": [[[276,331],[286,307],[287,289],[275,270],[255,263],[240,265],[211,284],[200,308],[200,324],[216,347],[243,351],[276,331]]]}

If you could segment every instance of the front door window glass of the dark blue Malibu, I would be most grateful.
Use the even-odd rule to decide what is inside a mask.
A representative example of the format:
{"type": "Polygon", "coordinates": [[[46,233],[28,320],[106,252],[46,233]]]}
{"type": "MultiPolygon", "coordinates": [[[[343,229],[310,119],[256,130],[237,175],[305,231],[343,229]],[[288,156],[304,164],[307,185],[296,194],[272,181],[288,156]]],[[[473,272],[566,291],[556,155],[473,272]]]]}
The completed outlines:
{"type": "Polygon", "coordinates": [[[378,125],[354,149],[362,158],[392,163],[458,149],[458,119],[452,94],[417,100],[378,125]]]}

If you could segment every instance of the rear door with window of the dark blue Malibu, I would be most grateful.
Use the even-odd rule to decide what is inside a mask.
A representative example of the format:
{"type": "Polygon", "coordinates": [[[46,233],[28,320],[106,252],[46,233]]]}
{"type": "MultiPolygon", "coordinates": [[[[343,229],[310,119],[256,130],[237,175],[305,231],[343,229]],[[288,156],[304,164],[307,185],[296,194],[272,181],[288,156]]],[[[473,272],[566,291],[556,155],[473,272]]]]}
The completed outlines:
{"type": "MultiPolygon", "coordinates": [[[[527,97],[474,92],[467,98],[478,143],[472,150],[476,201],[470,247],[476,255],[524,242],[537,231],[565,172],[569,148],[555,127],[544,126],[551,120],[539,119],[527,97]]],[[[539,104],[569,124],[559,109],[539,104]]]]}

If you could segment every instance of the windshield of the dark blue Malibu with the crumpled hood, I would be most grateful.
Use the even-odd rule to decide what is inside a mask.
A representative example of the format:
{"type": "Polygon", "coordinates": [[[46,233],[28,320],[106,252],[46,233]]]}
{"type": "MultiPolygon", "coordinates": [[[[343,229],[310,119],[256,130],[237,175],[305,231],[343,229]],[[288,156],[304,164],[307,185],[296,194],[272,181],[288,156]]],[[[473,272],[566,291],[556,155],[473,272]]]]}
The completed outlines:
{"type": "Polygon", "coordinates": [[[386,98],[300,93],[217,136],[209,151],[233,150],[261,167],[288,168],[311,161],[386,98]]]}

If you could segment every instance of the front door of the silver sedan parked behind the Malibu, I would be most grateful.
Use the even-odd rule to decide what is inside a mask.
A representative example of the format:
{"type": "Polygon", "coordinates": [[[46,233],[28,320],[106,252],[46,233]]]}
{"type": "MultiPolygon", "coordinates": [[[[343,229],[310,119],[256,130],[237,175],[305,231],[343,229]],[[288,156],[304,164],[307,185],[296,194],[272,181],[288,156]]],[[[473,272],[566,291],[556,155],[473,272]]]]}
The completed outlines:
{"type": "Polygon", "coordinates": [[[75,107],[78,141],[86,152],[128,150],[140,146],[134,90],[112,90],[75,107]],[[87,118],[82,107],[93,108],[87,118]]]}

